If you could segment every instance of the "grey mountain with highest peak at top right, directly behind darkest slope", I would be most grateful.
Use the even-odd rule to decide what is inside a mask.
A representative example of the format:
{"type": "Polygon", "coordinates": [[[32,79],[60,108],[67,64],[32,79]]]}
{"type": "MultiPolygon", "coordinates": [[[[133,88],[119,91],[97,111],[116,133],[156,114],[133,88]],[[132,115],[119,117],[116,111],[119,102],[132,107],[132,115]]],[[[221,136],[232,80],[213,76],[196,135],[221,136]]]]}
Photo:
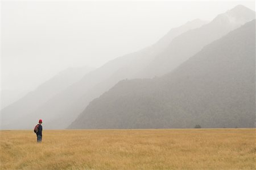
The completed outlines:
{"type": "Polygon", "coordinates": [[[204,45],[221,38],[253,19],[255,19],[255,11],[242,5],[218,15],[212,22],[177,36],[166,51],[155,57],[151,64],[137,74],[137,78],[152,78],[171,72],[189,57],[199,52],[204,45]]]}

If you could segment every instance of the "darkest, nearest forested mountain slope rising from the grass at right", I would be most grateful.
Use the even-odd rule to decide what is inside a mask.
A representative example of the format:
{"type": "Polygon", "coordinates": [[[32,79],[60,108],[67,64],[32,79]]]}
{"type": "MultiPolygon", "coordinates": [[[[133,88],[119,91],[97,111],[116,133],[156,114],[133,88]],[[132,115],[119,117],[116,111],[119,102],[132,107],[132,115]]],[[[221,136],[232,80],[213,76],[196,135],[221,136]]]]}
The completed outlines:
{"type": "Polygon", "coordinates": [[[163,77],[123,80],[69,128],[254,127],[255,20],[163,77]]]}

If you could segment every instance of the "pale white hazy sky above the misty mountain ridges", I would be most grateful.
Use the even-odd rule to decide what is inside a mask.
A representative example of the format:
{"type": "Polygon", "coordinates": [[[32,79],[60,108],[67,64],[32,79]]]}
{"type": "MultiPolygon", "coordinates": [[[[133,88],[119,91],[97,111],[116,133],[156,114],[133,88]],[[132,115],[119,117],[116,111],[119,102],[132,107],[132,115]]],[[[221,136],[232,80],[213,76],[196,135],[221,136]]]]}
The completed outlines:
{"type": "Polygon", "coordinates": [[[254,1],[2,1],[2,90],[32,90],[68,67],[100,67],[172,27],[254,1]]]}

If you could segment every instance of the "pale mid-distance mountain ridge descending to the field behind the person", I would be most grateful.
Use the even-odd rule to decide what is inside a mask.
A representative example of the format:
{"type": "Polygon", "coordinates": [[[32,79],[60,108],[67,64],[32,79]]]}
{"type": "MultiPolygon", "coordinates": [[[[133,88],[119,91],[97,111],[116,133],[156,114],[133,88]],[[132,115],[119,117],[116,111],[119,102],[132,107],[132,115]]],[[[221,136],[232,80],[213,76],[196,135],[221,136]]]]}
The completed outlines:
{"type": "MultiPolygon", "coordinates": [[[[30,114],[24,114],[22,125],[18,123],[20,119],[7,119],[5,122],[9,122],[9,125],[5,128],[31,128],[38,118],[44,120],[44,127],[46,128],[67,128],[85,109],[86,103],[109,90],[119,80],[146,67],[176,36],[205,23],[199,19],[187,22],[183,26],[172,28],[158,43],[109,61],[101,68],[86,74],[80,81],[67,89],[52,96],[48,101],[40,102],[36,109],[35,107],[27,109],[26,113],[30,114]]],[[[31,102],[27,102],[27,104],[30,105],[31,102]]],[[[13,105],[12,107],[16,106],[13,105]]],[[[3,114],[6,114],[5,110],[3,110],[3,114]]]]}

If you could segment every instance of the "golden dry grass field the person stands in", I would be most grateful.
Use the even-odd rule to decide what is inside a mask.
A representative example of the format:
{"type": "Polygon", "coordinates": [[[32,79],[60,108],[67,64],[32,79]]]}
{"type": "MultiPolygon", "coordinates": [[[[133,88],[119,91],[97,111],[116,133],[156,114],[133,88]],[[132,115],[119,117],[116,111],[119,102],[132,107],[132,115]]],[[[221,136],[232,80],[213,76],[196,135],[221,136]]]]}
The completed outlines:
{"type": "Polygon", "coordinates": [[[255,169],[255,129],[0,131],[1,169],[255,169]]]}

